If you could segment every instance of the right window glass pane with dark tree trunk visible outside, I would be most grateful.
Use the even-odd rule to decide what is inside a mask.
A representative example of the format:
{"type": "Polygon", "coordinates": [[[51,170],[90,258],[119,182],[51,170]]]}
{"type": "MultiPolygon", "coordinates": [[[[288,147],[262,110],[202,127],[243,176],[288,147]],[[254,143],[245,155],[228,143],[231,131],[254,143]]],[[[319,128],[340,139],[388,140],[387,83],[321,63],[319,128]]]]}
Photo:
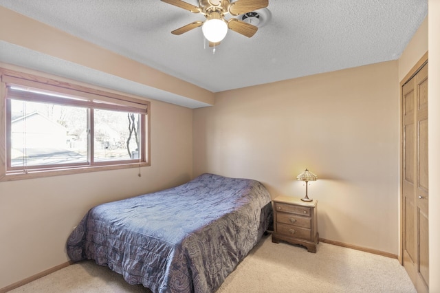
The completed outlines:
{"type": "Polygon", "coordinates": [[[139,160],[140,114],[94,110],[94,160],[139,160]]]}

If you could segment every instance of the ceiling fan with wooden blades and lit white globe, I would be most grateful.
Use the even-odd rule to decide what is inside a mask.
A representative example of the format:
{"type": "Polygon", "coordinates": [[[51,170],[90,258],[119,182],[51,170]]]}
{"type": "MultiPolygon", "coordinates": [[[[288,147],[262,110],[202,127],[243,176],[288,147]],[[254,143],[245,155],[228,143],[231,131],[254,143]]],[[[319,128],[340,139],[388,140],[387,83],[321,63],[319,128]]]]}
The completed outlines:
{"type": "Polygon", "coordinates": [[[243,36],[248,36],[248,38],[253,36],[258,30],[255,25],[233,17],[226,20],[226,14],[229,13],[232,16],[237,16],[269,6],[269,0],[237,0],[234,2],[230,0],[199,0],[198,7],[181,0],[162,1],[193,13],[203,14],[206,17],[206,21],[194,21],[177,30],[173,30],[171,33],[175,35],[184,34],[201,26],[203,35],[209,41],[211,47],[219,45],[226,36],[228,29],[243,34],[243,36]]]}

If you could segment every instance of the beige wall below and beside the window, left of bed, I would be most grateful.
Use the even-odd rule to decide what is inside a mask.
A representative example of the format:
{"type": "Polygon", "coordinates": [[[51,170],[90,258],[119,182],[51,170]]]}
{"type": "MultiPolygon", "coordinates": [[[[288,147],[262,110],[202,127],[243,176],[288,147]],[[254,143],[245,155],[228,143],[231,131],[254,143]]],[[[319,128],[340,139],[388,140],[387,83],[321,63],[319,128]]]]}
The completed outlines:
{"type": "Polygon", "coordinates": [[[0,182],[0,288],[65,263],[67,237],[92,206],[192,179],[191,109],[151,100],[151,166],[138,172],[0,182]]]}

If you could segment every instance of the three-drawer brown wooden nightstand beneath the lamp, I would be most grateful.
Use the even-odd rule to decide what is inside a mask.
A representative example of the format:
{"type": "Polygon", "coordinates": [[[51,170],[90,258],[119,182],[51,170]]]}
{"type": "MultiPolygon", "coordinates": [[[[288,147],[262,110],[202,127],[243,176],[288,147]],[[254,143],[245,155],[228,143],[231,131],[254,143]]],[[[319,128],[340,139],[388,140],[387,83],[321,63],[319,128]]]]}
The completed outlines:
{"type": "Polygon", "coordinates": [[[280,195],[274,200],[274,232],[272,242],[300,244],[316,252],[318,235],[318,200],[303,202],[298,197],[280,195]]]}

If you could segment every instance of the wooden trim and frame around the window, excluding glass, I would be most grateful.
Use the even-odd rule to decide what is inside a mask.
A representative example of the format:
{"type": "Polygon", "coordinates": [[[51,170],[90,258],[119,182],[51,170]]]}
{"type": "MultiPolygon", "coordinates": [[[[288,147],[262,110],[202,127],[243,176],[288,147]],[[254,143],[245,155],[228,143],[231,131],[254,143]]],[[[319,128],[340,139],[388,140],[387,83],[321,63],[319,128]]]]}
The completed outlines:
{"type": "MultiPolygon", "coordinates": [[[[51,177],[56,175],[72,175],[79,173],[88,173],[96,171],[108,171],[117,169],[140,168],[144,166],[151,166],[151,151],[150,151],[150,105],[148,100],[140,98],[133,98],[131,96],[123,96],[101,89],[94,89],[92,87],[85,87],[84,85],[77,85],[75,83],[59,81],[55,78],[46,78],[34,74],[18,72],[12,69],[5,69],[0,67],[0,182],[12,180],[25,180],[39,177],[51,177]],[[113,161],[109,162],[93,162],[93,165],[85,164],[65,164],[63,166],[45,166],[44,168],[30,168],[28,172],[7,169],[7,148],[8,140],[6,138],[6,123],[8,119],[6,111],[6,92],[8,87],[17,85],[19,87],[27,86],[44,91],[53,91],[58,94],[67,96],[80,96],[86,98],[93,104],[93,109],[109,109],[113,111],[133,111],[140,113],[141,123],[144,125],[144,133],[142,135],[140,158],[143,161],[133,162],[127,161],[113,161]],[[78,95],[80,93],[80,95],[78,95]],[[102,107],[96,105],[96,101],[103,102],[102,107]],[[116,105],[116,106],[115,106],[116,105]],[[119,106],[120,105],[120,106],[119,106]],[[122,109],[122,108],[124,109],[122,109]]],[[[21,100],[39,101],[38,94],[22,94],[21,100]]],[[[74,102],[69,101],[67,105],[74,105],[74,102]]],[[[84,103],[82,103],[84,105],[84,103]]],[[[90,104],[91,105],[91,104],[90,104]]],[[[9,117],[10,119],[10,117],[9,117]]],[[[90,125],[91,130],[93,126],[90,125]]],[[[93,148],[93,144],[89,144],[89,148],[93,148]]],[[[91,149],[93,151],[93,149],[91,149]]]]}

